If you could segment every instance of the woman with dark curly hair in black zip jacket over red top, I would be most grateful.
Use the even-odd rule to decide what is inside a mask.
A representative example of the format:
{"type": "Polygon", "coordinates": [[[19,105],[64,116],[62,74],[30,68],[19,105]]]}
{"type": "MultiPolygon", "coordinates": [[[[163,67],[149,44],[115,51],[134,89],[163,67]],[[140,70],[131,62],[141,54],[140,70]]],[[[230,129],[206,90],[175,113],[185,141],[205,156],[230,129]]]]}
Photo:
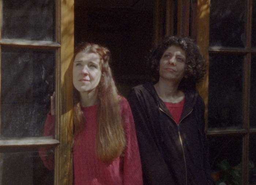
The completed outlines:
{"type": "Polygon", "coordinates": [[[128,97],[139,143],[145,185],[207,185],[208,146],[204,102],[196,83],[205,74],[199,47],[170,36],[148,57],[152,82],[128,97]]]}

